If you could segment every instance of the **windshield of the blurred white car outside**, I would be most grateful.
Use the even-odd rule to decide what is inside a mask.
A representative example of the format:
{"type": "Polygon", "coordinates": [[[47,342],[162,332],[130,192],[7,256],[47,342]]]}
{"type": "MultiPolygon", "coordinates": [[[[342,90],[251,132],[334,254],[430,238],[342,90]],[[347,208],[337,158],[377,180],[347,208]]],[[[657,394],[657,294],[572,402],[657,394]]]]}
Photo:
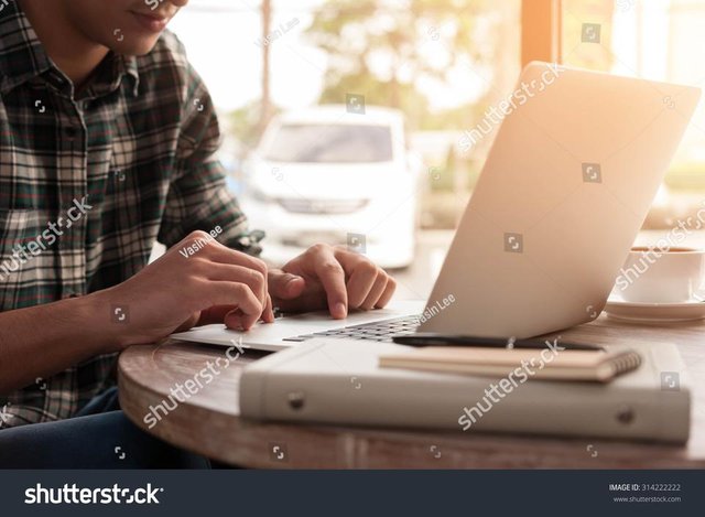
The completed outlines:
{"type": "Polygon", "coordinates": [[[273,162],[365,163],[392,160],[388,126],[285,123],[264,157],[273,162]]]}

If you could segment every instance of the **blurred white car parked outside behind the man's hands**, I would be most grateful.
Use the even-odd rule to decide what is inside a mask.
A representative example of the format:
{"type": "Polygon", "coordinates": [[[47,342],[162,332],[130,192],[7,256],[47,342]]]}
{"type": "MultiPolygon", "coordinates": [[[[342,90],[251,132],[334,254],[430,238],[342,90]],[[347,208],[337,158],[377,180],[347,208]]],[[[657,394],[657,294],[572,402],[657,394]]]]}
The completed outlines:
{"type": "Polygon", "coordinates": [[[282,265],[317,243],[343,244],[384,268],[414,257],[422,164],[403,115],[318,106],[278,116],[245,165],[242,206],[282,265]]]}

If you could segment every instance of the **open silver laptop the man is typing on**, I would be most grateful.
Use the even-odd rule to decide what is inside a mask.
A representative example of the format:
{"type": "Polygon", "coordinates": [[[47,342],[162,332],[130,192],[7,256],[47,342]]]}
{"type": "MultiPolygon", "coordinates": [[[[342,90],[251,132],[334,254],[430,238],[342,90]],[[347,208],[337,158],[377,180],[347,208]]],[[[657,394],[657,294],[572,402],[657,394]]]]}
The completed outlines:
{"type": "Polygon", "coordinates": [[[694,87],[531,63],[496,106],[501,126],[429,300],[172,337],[276,351],[322,335],[530,337],[586,323],[603,310],[698,99],[694,87]]]}

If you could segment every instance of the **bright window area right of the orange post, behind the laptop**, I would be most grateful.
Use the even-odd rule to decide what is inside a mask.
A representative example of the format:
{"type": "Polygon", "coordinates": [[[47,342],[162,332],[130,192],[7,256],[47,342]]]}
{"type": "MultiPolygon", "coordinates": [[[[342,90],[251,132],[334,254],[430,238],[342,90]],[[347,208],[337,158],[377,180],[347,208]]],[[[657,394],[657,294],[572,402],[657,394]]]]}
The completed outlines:
{"type": "MultiPolygon", "coordinates": [[[[703,87],[703,28],[705,1],[701,0],[563,0],[562,58],[567,65],[703,87]]],[[[662,214],[652,213],[651,225],[669,225],[690,212],[703,191],[705,103],[701,100],[657,198],[654,211],[662,214]]]]}

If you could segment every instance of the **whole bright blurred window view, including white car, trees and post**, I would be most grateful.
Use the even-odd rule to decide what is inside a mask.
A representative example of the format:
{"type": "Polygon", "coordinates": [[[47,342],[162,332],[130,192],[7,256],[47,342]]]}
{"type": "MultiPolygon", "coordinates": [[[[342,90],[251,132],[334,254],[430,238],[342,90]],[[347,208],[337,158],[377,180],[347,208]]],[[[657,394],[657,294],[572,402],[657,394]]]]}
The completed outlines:
{"type": "MultiPolygon", "coordinates": [[[[409,298],[427,294],[497,127],[463,138],[523,64],[705,84],[705,0],[194,0],[171,28],[265,258],[347,244],[404,270],[409,298]]],[[[644,235],[704,197],[701,104],[644,235]]]]}

